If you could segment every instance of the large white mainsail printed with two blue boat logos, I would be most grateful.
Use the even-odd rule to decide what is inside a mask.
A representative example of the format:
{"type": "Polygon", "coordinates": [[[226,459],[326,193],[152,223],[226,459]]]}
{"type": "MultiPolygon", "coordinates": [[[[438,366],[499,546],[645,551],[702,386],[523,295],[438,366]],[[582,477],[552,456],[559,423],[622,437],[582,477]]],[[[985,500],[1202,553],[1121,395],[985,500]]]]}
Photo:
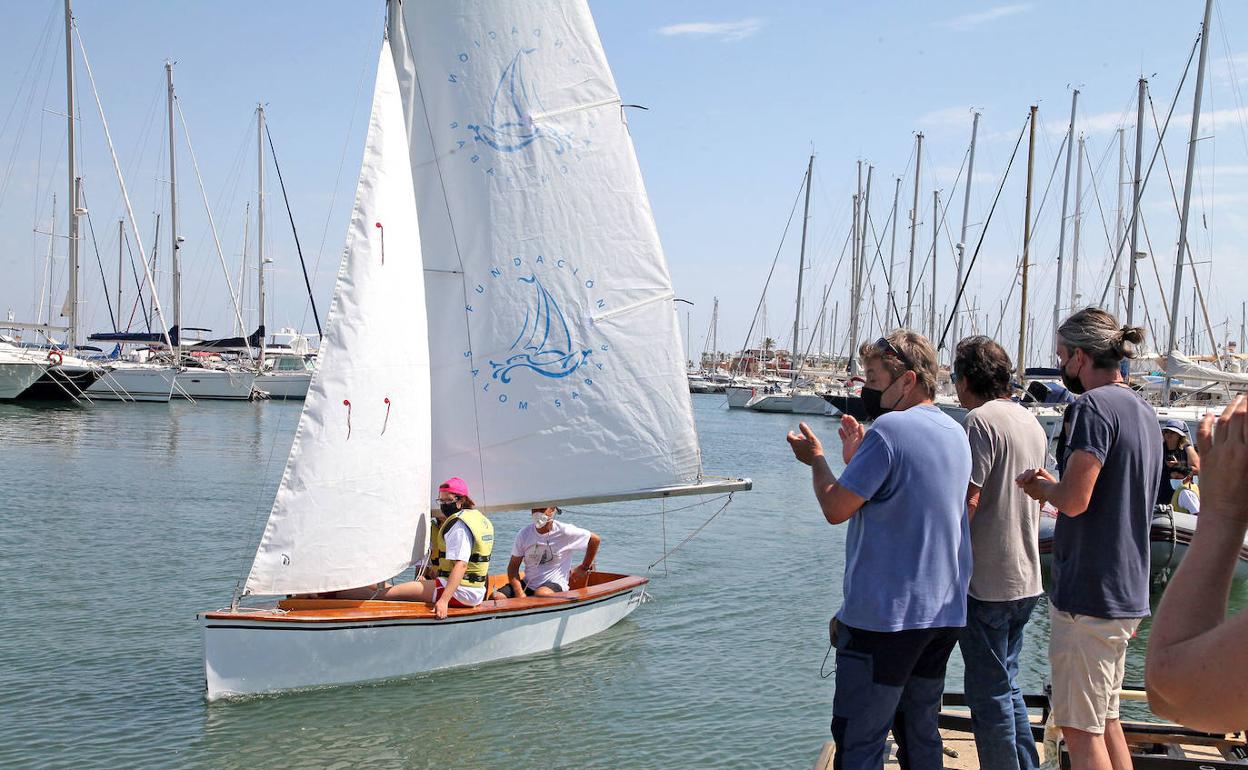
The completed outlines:
{"type": "Polygon", "coordinates": [[[588,5],[394,1],[389,24],[434,477],[493,509],[701,482],[671,280],[588,5]]]}

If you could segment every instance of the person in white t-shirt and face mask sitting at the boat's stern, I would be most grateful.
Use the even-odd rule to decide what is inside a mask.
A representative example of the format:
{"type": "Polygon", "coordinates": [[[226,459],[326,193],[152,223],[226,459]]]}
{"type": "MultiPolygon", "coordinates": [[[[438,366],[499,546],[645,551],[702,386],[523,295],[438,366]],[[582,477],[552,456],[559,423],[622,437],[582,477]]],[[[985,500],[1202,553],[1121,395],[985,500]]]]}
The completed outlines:
{"type": "Polygon", "coordinates": [[[603,539],[588,529],[555,520],[558,513],[555,507],[532,510],[533,523],[515,535],[512,560],[507,564],[507,585],[494,592],[494,599],[549,597],[568,590],[572,582],[584,585],[589,579],[603,539]],[[585,555],[575,569],[569,569],[578,550],[585,555]]]}

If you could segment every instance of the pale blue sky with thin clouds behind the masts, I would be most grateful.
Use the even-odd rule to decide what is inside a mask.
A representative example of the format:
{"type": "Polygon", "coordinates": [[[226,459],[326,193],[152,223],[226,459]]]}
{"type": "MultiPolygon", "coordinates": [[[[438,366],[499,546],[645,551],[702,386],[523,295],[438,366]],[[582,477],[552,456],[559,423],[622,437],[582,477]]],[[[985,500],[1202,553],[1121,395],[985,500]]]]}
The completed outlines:
{"type": "MultiPolygon", "coordinates": [[[[851,200],[857,163],[874,166],[866,285],[860,338],[886,316],[887,263],[899,312],[914,196],[915,134],[922,132],[915,266],[915,324],[931,302],[932,223],[937,314],[953,305],[953,245],[960,240],[965,161],[972,111],[982,114],[971,181],[962,331],[1017,346],[1017,266],[1022,250],[1026,140],[1002,186],[1028,106],[1038,105],[1035,222],[1028,309],[1028,363],[1047,363],[1055,312],[1058,241],[1065,231],[1062,308],[1072,307],[1070,275],[1076,215],[1072,162],[1067,217],[1062,154],[1072,90],[1080,90],[1076,136],[1083,135],[1080,305],[1098,303],[1108,282],[1117,216],[1117,130],[1126,130],[1128,181],[1134,154],[1134,95],[1149,81],[1144,162],[1157,144],[1193,50],[1203,4],[1107,0],[1035,2],[784,2],[735,0],[590,0],[654,208],[689,347],[704,349],[714,298],[718,347],[756,344],[766,334],[791,344],[801,208],[799,188],[815,154],[807,220],[802,347],[844,352],[847,339],[851,200]],[[892,252],[894,180],[900,186],[892,252]],[[997,198],[997,190],[1001,190],[997,198]],[[940,191],[941,213],[932,213],[940,191]],[[997,207],[988,220],[993,200],[997,207]],[[796,203],[796,212],[795,211],[796,203]],[[947,206],[947,210],[946,210],[947,206]],[[790,216],[792,217],[790,221],[790,216]],[[987,225],[985,226],[985,222],[987,225]],[[787,225],[787,233],[785,235],[787,225]],[[1065,222],[1065,227],[1060,227],[1065,222]],[[781,242],[781,236],[784,240],[781,242]],[[756,313],[773,260],[764,318],[756,313]],[[894,255],[894,256],[890,256],[894,255]],[[827,309],[820,322],[825,286],[827,309]],[[874,286],[874,291],[870,287],[874,286]],[[874,297],[871,300],[870,297],[874,297]],[[874,305],[872,305],[874,302],[874,305]],[[835,308],[835,312],[834,312],[835,308]],[[836,326],[832,328],[832,316],[836,326]],[[972,322],[973,318],[973,322],[972,322]],[[822,327],[822,334],[820,334],[822,327]]],[[[255,271],[242,270],[245,236],[255,256],[257,102],[266,105],[291,216],[323,314],[342,251],[372,90],[384,6],[381,1],[161,2],[77,0],[75,16],[139,220],[151,252],[162,212],[157,257],[167,283],[167,135],[165,62],[186,127],[178,132],[178,217],[186,238],[183,324],[232,333],[233,309],[208,227],[195,162],[231,281],[243,277],[242,312],[255,318],[255,271]],[[193,147],[192,162],[190,147],[193,147]]],[[[0,32],[0,312],[19,321],[54,316],[65,295],[65,86],[60,0],[30,0],[6,11],[0,32]],[[57,236],[51,227],[56,195],[57,236]],[[50,258],[51,256],[51,258],[50,258]],[[41,316],[40,316],[41,313],[41,316]]],[[[1241,336],[1248,298],[1248,7],[1214,5],[1197,177],[1188,241],[1214,338],[1241,336]]],[[[1141,285],[1136,322],[1164,347],[1173,283],[1194,64],[1178,94],[1171,127],[1142,201],[1141,285]],[[1167,175],[1168,171],[1168,175],[1167,175]],[[1173,188],[1171,186],[1173,178],[1173,188]],[[1147,238],[1143,232],[1147,232],[1147,238]]],[[[117,220],[122,215],[95,97],[79,56],[80,157],[90,215],[84,217],[84,317],[111,331],[117,220]],[[94,236],[92,231],[94,230],[94,236]],[[99,256],[97,256],[99,255],[99,256]],[[101,278],[102,275],[102,278],[101,278]]],[[[1076,155],[1077,160],[1077,155],[1076,155]]],[[[272,160],[267,160],[266,253],[270,329],[314,331],[291,223],[272,160]]],[[[1129,187],[1124,195],[1129,210],[1129,187]]],[[[1129,211],[1123,212],[1123,218],[1129,211]]],[[[134,237],[127,236],[135,251],[134,237]]],[[[137,251],[135,251],[137,253],[137,251]]],[[[129,271],[129,262],[125,266],[129,271]]],[[[137,321],[135,282],[124,281],[122,322],[137,321]]],[[[1179,333],[1193,312],[1184,272],[1179,333]]],[[[167,301],[166,301],[167,303],[167,301]]],[[[1112,292],[1106,305],[1113,306],[1112,292]]],[[[1203,316],[1197,317],[1203,329],[1203,316]]],[[[1199,344],[1208,347],[1202,332],[1199,344]]]]}

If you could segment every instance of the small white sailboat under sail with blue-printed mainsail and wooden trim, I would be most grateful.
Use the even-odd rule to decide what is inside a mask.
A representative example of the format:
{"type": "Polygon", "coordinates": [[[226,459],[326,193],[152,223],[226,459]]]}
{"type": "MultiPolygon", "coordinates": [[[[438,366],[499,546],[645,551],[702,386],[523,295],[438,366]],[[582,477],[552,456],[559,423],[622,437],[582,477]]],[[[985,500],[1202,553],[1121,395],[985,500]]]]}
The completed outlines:
{"type": "Polygon", "coordinates": [[[235,602],[200,615],[207,698],[547,651],[636,609],[646,578],[605,572],[443,620],[423,603],[258,598],[418,564],[449,475],[487,512],[749,489],[703,474],[673,298],[588,4],[392,2],[286,470],[235,602]],[[547,107],[528,119],[562,146],[470,127],[518,51],[520,90],[547,107]]]}

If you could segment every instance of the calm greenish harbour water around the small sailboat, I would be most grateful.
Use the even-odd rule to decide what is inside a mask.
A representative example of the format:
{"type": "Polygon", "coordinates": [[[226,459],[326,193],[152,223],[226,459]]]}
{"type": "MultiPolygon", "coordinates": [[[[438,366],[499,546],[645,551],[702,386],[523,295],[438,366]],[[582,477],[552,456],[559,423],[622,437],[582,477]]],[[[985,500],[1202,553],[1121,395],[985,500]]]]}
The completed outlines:
{"type": "MultiPolygon", "coordinates": [[[[829,738],[820,669],[845,532],[784,442],[796,421],[723,404],[694,397],[705,468],[754,490],[649,569],[655,600],[613,629],[559,653],[211,705],[195,613],[228,604],[245,575],[300,404],[0,404],[0,766],[810,766],[829,738]]],[[[834,421],[810,421],[835,444],[834,421]]],[[[568,520],[603,535],[600,567],[646,573],[664,539],[718,508],[568,520]]],[[[495,517],[499,542],[527,519],[495,517]]],[[[1043,609],[1028,689],[1047,669],[1043,609]]],[[[1142,650],[1143,634],[1128,680],[1142,650]]]]}

